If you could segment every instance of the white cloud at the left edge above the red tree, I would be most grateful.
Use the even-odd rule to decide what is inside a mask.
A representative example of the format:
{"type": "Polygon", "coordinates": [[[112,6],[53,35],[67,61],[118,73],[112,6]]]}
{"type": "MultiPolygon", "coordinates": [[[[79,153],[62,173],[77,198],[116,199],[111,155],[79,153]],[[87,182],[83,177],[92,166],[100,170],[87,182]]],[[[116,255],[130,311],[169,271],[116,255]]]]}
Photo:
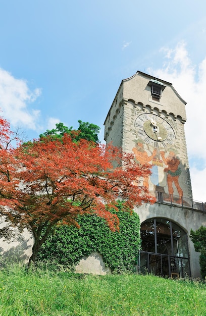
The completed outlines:
{"type": "Polygon", "coordinates": [[[28,109],[28,104],[40,94],[40,89],[31,91],[25,80],[0,68],[0,108],[12,125],[37,130],[40,111],[28,109]]]}

